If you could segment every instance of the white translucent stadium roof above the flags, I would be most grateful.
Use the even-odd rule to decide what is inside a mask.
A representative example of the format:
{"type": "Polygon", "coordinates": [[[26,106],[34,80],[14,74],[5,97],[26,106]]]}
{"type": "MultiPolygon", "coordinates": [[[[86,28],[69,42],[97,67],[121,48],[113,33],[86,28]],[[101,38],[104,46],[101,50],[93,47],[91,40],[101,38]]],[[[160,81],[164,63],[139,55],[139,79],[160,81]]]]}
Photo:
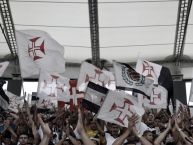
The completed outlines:
{"type": "MultiPolygon", "coordinates": [[[[8,3],[14,29],[40,29],[65,48],[66,62],[92,59],[91,40],[97,39],[100,59],[135,62],[193,57],[192,0],[2,0],[8,3]],[[90,9],[89,9],[90,4],[90,9]],[[92,10],[98,37],[90,31],[92,10]],[[90,14],[90,15],[89,15],[90,14]],[[189,18],[189,19],[188,19],[189,18]],[[186,31],[187,27],[187,31],[186,31]],[[184,45],[183,45],[184,44],[184,45]],[[186,57],[183,57],[186,56],[186,57]]],[[[2,11],[1,11],[2,13],[2,11]]],[[[2,17],[3,14],[1,15],[2,17]]],[[[4,30],[5,19],[0,23],[4,30]]],[[[93,21],[91,22],[93,23],[93,21]]],[[[1,58],[17,53],[0,33],[1,58]],[[9,49],[10,48],[10,49],[9,49]]]]}

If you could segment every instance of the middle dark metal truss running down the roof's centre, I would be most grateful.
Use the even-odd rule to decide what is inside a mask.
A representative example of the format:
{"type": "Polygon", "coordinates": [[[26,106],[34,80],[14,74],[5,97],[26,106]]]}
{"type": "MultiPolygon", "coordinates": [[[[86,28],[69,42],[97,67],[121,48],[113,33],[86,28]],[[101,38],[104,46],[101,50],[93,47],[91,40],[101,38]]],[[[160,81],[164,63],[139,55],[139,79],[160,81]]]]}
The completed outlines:
{"type": "Polygon", "coordinates": [[[98,25],[98,1],[88,0],[89,18],[90,18],[90,35],[92,48],[92,63],[101,67],[100,49],[99,49],[99,25],[98,25]]]}

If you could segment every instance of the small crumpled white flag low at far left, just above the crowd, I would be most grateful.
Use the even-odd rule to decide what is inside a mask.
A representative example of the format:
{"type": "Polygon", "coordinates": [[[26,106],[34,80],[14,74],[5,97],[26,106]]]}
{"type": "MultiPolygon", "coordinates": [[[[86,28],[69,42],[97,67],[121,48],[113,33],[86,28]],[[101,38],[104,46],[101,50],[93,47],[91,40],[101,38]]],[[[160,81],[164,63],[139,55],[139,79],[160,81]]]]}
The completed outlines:
{"type": "Polygon", "coordinates": [[[21,108],[24,104],[24,97],[19,97],[9,91],[5,91],[5,94],[9,97],[8,109],[13,112],[18,112],[18,106],[21,108]]]}

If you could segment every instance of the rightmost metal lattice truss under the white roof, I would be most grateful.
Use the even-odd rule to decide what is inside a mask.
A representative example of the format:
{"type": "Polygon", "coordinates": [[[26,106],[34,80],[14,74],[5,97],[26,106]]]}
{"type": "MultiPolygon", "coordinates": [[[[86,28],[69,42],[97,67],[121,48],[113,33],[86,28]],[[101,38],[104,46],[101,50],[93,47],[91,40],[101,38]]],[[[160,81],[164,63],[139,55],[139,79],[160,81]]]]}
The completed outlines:
{"type": "Polygon", "coordinates": [[[176,66],[180,66],[181,58],[183,56],[184,42],[186,37],[191,5],[192,5],[192,0],[179,0],[176,36],[175,36],[174,53],[173,53],[176,66]]]}

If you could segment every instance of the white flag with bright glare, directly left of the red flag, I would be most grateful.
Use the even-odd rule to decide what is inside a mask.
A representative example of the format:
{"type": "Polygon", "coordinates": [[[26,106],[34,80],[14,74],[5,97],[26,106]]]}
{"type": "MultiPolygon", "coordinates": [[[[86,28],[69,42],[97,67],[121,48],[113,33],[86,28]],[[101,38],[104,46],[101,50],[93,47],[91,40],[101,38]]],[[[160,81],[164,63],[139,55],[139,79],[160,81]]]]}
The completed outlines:
{"type": "MultiPolygon", "coordinates": [[[[69,79],[57,73],[41,71],[37,96],[40,104],[50,104],[52,101],[70,101],[69,79]]],[[[41,105],[40,105],[41,106],[41,105]]]]}

